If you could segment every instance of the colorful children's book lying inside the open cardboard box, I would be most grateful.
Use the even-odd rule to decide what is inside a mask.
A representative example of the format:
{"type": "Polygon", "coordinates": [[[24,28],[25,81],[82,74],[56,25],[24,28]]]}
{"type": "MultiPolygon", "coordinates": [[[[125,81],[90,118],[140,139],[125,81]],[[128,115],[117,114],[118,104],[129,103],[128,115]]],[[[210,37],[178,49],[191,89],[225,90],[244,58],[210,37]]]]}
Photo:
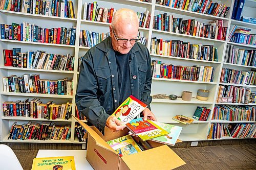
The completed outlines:
{"type": "Polygon", "coordinates": [[[107,141],[119,156],[131,155],[141,152],[139,145],[134,141],[132,136],[126,135],[110,141],[107,141]]]}

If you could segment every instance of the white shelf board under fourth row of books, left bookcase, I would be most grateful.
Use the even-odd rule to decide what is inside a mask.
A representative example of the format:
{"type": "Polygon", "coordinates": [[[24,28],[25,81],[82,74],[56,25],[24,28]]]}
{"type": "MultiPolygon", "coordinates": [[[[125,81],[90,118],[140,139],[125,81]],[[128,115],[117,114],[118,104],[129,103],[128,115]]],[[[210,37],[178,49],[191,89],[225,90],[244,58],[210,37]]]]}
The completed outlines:
{"type": "Polygon", "coordinates": [[[40,94],[40,93],[16,93],[16,92],[1,92],[2,95],[17,95],[17,96],[32,96],[41,98],[64,98],[72,99],[72,95],[58,95],[58,94],[40,94]]]}

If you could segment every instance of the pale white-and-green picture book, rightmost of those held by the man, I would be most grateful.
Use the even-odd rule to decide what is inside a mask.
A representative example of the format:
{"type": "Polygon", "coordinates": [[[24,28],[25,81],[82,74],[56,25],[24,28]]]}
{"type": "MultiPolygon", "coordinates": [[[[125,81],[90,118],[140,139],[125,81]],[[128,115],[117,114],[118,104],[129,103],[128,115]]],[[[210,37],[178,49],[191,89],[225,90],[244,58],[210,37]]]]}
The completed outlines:
{"type": "Polygon", "coordinates": [[[166,130],[168,132],[168,134],[164,135],[164,136],[155,137],[151,140],[174,146],[177,139],[180,136],[182,127],[164,124],[164,123],[155,122],[155,121],[154,121],[154,123],[156,125],[158,125],[159,127],[161,127],[162,129],[166,130]]]}

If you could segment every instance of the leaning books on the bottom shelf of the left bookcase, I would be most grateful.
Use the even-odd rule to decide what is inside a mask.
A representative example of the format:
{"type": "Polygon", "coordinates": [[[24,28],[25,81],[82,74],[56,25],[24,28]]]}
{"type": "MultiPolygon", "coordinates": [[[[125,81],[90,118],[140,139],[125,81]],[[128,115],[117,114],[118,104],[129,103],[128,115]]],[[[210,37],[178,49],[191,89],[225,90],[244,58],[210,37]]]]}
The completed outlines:
{"type": "Polygon", "coordinates": [[[70,125],[51,125],[51,122],[28,122],[18,125],[15,122],[12,125],[8,139],[13,140],[69,140],[71,135],[70,125]]]}

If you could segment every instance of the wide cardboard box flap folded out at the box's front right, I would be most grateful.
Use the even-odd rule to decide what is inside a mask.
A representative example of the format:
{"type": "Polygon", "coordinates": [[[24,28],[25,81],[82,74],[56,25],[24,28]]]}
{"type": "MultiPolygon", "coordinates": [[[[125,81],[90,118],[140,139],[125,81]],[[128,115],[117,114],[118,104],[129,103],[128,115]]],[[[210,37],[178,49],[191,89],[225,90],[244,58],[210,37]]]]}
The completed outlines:
{"type": "Polygon", "coordinates": [[[174,169],[186,164],[167,145],[153,148],[133,155],[123,156],[121,159],[130,169],[174,169]]]}

